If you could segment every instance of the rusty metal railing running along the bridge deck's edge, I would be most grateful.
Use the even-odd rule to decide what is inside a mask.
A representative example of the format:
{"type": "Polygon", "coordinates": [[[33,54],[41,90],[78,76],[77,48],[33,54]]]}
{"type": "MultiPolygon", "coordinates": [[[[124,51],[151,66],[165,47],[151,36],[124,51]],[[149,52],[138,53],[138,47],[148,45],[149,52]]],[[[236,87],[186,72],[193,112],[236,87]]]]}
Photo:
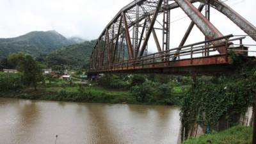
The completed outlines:
{"type": "MultiPolygon", "coordinates": [[[[227,55],[228,51],[234,47],[233,42],[239,42],[240,45],[243,45],[242,40],[245,38],[241,37],[231,39],[232,37],[233,35],[221,36],[220,38],[197,42],[183,47],[176,47],[167,51],[156,52],[154,54],[147,54],[130,60],[117,61],[112,65],[104,65],[103,67],[91,69],[90,71],[104,71],[111,70],[113,68],[129,69],[129,67],[143,67],[148,64],[189,59],[192,63],[193,58],[202,58],[219,54],[218,49],[225,49],[225,53],[221,54],[227,55]],[[216,42],[218,43],[216,44],[216,42]]],[[[152,68],[154,68],[154,65],[152,65],[152,68]]]]}

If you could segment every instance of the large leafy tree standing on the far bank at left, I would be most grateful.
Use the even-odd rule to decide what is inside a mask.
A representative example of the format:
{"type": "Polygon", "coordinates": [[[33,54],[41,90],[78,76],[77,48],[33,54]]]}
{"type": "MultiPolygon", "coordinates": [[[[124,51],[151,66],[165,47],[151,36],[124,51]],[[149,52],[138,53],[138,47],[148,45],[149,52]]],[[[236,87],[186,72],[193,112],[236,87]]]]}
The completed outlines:
{"type": "Polygon", "coordinates": [[[10,54],[8,61],[13,63],[22,74],[22,81],[27,86],[33,86],[36,90],[37,83],[42,81],[42,67],[30,54],[10,54]]]}

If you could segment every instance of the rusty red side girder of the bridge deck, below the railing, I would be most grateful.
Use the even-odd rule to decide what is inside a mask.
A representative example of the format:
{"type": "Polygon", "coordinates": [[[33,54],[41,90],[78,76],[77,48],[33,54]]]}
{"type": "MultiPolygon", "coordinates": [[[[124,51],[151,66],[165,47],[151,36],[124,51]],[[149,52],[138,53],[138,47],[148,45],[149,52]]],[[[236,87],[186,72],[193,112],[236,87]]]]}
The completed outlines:
{"type": "Polygon", "coordinates": [[[217,74],[228,70],[232,60],[226,54],[218,54],[201,58],[177,61],[163,61],[156,63],[141,63],[134,65],[119,65],[90,71],[88,74],[98,73],[166,73],[166,74],[217,74]]]}

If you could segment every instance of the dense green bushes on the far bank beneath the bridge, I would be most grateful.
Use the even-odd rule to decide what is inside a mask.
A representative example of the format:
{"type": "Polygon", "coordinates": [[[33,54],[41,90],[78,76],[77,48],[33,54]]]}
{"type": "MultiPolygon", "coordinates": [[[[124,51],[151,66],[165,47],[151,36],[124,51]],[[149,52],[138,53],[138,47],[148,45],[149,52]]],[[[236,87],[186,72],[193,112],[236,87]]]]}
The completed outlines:
{"type": "Polygon", "coordinates": [[[157,74],[115,75],[107,74],[99,79],[99,85],[115,90],[129,90],[137,102],[145,104],[180,104],[182,94],[191,79],[157,74]],[[182,84],[184,82],[187,85],[182,84]]]}

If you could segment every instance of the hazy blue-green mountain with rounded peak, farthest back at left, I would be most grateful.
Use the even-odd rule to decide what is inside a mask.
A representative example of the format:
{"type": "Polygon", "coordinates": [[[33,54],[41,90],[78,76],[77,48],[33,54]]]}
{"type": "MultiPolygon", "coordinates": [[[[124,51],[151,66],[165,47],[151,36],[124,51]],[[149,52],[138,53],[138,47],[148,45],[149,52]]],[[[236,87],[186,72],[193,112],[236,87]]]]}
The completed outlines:
{"type": "Polygon", "coordinates": [[[67,39],[57,31],[32,31],[15,38],[0,38],[0,60],[13,52],[26,52],[39,56],[63,46],[77,44],[78,41],[81,42],[81,39],[67,39]]]}

